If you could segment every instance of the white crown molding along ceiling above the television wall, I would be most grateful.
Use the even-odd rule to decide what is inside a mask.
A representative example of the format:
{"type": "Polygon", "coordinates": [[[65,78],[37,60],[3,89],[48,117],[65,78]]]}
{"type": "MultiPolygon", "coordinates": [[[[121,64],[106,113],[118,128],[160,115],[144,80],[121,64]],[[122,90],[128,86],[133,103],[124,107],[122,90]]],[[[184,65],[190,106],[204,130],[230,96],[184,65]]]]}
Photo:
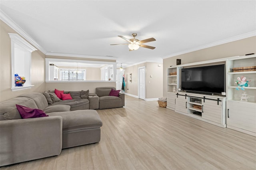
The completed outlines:
{"type": "Polygon", "coordinates": [[[180,52],[177,52],[177,53],[172,53],[170,55],[162,57],[162,59],[174,57],[174,56],[185,54],[185,53],[190,53],[190,52],[197,51],[197,50],[200,50],[200,49],[214,47],[216,45],[221,45],[221,44],[224,44],[224,43],[229,43],[229,42],[234,42],[234,41],[237,41],[237,40],[242,40],[244,38],[249,38],[249,37],[253,37],[253,36],[256,36],[256,31],[248,32],[248,33],[245,33],[245,34],[241,34],[241,35],[234,36],[234,37],[231,37],[231,38],[227,38],[227,39],[224,39],[224,40],[220,40],[220,41],[217,41],[217,42],[208,43],[206,45],[201,45],[201,46],[191,48],[191,49],[187,49],[187,50],[184,50],[184,51],[180,51],[180,52]]]}

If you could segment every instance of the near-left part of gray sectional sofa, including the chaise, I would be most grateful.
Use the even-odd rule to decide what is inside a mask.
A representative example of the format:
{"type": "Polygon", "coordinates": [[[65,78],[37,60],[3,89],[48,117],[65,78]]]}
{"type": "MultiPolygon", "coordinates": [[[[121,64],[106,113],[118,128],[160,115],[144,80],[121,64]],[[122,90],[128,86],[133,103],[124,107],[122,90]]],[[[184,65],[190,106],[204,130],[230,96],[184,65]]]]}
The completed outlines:
{"type": "Polygon", "coordinates": [[[62,148],[99,142],[100,127],[97,111],[70,111],[70,105],[48,105],[42,93],[1,102],[0,166],[59,155],[62,148]],[[44,110],[49,116],[22,119],[16,104],[44,110]]]}

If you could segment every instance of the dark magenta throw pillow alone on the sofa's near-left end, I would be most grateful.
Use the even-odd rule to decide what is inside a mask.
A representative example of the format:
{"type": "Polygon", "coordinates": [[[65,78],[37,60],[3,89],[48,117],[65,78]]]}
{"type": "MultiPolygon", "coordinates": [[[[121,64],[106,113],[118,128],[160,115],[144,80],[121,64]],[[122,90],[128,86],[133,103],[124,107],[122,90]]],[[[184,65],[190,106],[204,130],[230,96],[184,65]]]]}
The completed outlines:
{"type": "Polygon", "coordinates": [[[46,113],[40,109],[32,109],[29,107],[16,105],[22,119],[35,118],[35,117],[46,117],[46,113]]]}

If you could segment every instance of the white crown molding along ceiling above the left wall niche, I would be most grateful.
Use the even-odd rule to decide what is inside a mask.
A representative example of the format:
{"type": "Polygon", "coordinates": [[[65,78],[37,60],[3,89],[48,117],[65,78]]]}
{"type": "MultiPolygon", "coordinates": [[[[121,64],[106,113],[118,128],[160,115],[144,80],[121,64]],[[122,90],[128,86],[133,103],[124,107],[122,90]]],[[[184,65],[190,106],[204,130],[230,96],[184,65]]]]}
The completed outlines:
{"type": "Polygon", "coordinates": [[[31,38],[18,24],[16,24],[10,17],[8,17],[1,9],[0,9],[0,19],[5,22],[10,28],[12,28],[14,31],[16,31],[20,36],[22,36],[24,39],[26,39],[29,43],[34,45],[37,49],[42,51],[42,53],[46,54],[46,50],[41,47],[33,38],[31,38]]]}

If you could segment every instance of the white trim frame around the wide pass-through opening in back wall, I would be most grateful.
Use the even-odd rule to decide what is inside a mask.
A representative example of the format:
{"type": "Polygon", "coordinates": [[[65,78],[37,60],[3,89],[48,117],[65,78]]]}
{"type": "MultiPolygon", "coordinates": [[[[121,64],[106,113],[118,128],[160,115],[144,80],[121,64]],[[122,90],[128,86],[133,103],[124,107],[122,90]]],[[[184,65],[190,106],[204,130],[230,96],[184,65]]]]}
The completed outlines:
{"type": "MultiPolygon", "coordinates": [[[[50,62],[70,62],[70,63],[90,63],[90,64],[107,64],[107,65],[113,65],[113,75],[116,75],[116,62],[109,62],[109,61],[90,61],[90,60],[76,60],[76,59],[56,59],[56,58],[46,58],[45,59],[45,82],[78,82],[78,80],[73,81],[62,81],[62,80],[58,80],[58,81],[50,81],[49,80],[49,65],[50,62]]],[[[116,76],[113,76],[113,80],[112,81],[79,81],[79,82],[116,82],[116,76]]]]}

